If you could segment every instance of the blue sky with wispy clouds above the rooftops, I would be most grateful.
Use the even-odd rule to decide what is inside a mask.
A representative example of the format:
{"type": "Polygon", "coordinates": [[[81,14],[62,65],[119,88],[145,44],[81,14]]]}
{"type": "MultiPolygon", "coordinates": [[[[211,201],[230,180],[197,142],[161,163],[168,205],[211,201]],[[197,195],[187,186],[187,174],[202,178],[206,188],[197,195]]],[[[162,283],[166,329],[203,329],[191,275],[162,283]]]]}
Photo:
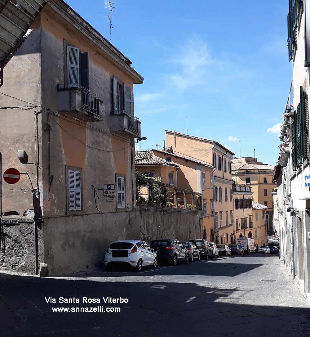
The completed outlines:
{"type": "MultiPolygon", "coordinates": [[[[66,1],[110,39],[104,0],[66,1]]],[[[288,1],[115,0],[112,44],[144,83],[134,86],[139,150],[165,129],[215,140],[275,165],[289,93],[288,1]],[[220,4],[220,5],[219,5],[220,4]]]]}

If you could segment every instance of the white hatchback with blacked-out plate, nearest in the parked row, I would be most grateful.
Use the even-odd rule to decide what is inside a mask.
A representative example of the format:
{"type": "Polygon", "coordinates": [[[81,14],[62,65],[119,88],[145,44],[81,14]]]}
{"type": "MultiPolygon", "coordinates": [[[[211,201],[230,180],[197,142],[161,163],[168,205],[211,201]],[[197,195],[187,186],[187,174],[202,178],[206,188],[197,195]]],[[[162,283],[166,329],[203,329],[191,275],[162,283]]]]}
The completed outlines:
{"type": "Polygon", "coordinates": [[[146,242],[141,240],[119,240],[110,244],[104,257],[104,266],[130,265],[140,271],[144,266],[157,267],[157,255],[146,242]]]}

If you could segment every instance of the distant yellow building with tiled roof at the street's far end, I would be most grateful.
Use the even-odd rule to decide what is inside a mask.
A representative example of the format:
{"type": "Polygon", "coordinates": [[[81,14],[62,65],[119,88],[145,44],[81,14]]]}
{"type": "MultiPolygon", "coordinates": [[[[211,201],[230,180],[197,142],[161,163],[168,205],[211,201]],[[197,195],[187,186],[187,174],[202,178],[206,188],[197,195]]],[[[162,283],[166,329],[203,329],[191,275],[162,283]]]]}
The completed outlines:
{"type": "Polygon", "coordinates": [[[253,201],[267,207],[266,223],[268,234],[273,234],[273,195],[276,187],[273,177],[274,166],[257,162],[257,158],[241,157],[232,159],[232,179],[236,184],[251,186],[253,201]]]}

